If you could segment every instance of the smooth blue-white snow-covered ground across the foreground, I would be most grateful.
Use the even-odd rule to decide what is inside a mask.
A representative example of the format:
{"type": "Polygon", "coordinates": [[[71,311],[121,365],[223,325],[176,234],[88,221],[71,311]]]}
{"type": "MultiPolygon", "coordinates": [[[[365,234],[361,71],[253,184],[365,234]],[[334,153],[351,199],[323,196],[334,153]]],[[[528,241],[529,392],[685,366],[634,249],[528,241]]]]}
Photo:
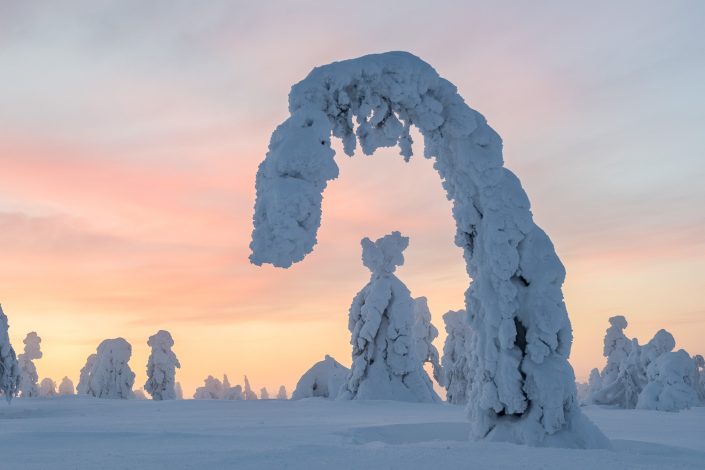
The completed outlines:
{"type": "Polygon", "coordinates": [[[0,404],[0,469],[705,469],[705,408],[584,408],[613,450],[469,442],[462,407],[388,401],[0,404]]]}

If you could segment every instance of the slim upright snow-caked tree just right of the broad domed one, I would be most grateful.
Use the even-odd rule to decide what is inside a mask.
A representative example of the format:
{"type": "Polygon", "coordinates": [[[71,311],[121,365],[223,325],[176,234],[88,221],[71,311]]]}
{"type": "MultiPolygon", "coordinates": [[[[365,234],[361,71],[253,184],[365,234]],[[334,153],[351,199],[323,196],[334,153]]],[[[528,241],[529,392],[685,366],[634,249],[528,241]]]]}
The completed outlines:
{"type": "Polygon", "coordinates": [[[147,361],[147,382],[144,390],[152,400],[176,399],[176,369],[181,367],[171,348],[174,340],[168,331],[159,330],[149,337],[147,345],[152,348],[147,361]]]}

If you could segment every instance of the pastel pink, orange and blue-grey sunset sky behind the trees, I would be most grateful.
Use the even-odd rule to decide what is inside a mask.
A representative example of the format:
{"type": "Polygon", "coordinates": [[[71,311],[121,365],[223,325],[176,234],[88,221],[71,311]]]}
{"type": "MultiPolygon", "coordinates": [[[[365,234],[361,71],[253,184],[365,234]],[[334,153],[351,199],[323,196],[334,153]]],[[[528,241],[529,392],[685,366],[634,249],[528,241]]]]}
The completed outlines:
{"type": "Polygon", "coordinates": [[[399,277],[443,330],[468,279],[421,152],[340,155],[316,251],[288,271],[247,262],[254,175],[289,87],[395,49],[434,65],[503,136],[568,271],[579,378],[602,365],[614,314],[642,342],[665,327],[705,352],[697,15],[390,2],[365,16],[376,3],[363,4],[0,15],[0,302],[16,349],[43,338],[40,376],[76,380],[102,339],[123,336],[137,388],[148,336],[168,329],[188,393],[224,372],[291,390],[324,354],[349,362],[347,309],[368,277],[359,240],[391,230],[411,237],[399,277]]]}

